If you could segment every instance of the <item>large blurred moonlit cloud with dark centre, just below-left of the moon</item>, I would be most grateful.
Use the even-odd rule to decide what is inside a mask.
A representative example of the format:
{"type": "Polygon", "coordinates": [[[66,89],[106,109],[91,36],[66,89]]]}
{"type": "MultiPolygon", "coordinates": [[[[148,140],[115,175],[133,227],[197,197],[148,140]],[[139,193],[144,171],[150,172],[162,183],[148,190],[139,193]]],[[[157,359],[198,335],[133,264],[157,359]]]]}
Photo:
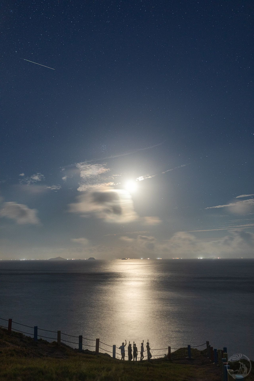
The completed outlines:
{"type": "MultiPolygon", "coordinates": [[[[129,192],[123,189],[100,187],[91,189],[70,204],[72,213],[93,214],[106,222],[123,223],[137,219],[129,192]]],[[[87,216],[87,215],[86,215],[87,216]]]]}

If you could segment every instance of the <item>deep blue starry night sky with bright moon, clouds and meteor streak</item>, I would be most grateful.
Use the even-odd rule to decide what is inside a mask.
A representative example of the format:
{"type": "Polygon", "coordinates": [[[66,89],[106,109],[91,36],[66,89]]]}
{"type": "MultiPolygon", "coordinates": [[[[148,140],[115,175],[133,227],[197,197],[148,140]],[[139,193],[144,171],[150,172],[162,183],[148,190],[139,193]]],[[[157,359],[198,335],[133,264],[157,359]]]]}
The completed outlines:
{"type": "Polygon", "coordinates": [[[5,0],[0,259],[253,258],[253,11],[5,0]]]}

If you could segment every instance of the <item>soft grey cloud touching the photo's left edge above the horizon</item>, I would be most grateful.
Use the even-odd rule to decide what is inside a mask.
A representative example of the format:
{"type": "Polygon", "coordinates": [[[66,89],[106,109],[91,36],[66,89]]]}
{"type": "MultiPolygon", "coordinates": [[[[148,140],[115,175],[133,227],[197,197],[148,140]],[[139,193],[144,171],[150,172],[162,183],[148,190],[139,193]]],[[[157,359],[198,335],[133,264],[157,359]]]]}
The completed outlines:
{"type": "Polygon", "coordinates": [[[39,224],[36,209],[29,209],[27,205],[16,202],[5,202],[0,216],[14,219],[18,224],[39,224]]]}

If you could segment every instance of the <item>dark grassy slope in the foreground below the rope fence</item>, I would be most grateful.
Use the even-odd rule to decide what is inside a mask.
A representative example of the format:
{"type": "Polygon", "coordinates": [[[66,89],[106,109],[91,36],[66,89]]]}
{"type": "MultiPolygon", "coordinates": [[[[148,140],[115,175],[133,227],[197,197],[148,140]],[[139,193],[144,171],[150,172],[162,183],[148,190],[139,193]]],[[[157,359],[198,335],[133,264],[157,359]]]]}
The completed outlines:
{"type": "MultiPolygon", "coordinates": [[[[21,333],[0,328],[0,380],[17,381],[221,381],[222,371],[209,362],[204,352],[193,350],[186,360],[186,349],[172,354],[172,361],[152,359],[151,363],[121,362],[107,354],[95,355],[62,344],[60,347],[21,333]]],[[[248,381],[254,377],[249,376],[248,381]]]]}

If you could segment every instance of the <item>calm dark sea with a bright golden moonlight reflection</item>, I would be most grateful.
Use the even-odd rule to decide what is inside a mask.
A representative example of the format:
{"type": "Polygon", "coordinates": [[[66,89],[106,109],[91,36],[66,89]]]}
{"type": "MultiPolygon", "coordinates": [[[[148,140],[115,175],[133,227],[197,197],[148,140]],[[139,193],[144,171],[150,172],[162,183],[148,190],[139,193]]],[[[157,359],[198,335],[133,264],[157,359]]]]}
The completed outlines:
{"type": "Polygon", "coordinates": [[[209,340],[254,360],[254,260],[0,261],[0,317],[138,351],[209,340]]]}

